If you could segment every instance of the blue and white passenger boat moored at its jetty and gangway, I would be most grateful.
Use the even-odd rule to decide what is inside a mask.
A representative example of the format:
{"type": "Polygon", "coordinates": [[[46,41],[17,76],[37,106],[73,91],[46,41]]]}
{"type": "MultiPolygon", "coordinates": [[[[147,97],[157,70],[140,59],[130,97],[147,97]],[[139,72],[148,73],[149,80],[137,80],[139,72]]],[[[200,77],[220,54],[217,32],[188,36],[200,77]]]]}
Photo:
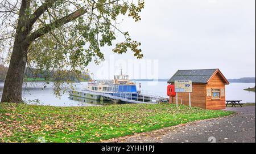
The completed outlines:
{"type": "Polygon", "coordinates": [[[71,96],[92,100],[112,100],[128,103],[160,102],[160,97],[143,95],[128,75],[114,75],[113,80],[90,80],[84,91],[71,91],[71,96]]]}

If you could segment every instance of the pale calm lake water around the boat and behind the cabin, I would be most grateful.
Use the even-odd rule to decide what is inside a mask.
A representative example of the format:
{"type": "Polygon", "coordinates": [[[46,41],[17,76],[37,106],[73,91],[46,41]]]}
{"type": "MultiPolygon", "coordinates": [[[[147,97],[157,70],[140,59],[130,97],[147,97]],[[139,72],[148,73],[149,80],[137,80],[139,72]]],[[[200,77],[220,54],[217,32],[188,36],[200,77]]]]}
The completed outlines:
{"type": "MultiPolygon", "coordinates": [[[[141,91],[155,96],[166,96],[166,82],[137,82],[139,90],[139,83],[141,83],[141,91]]],[[[44,87],[44,83],[31,82],[27,83],[26,90],[23,91],[24,101],[35,101],[39,100],[42,105],[52,106],[95,106],[101,105],[101,102],[92,100],[71,100],[69,99],[68,93],[64,93],[60,98],[56,98],[53,95],[53,83],[44,87]],[[43,89],[42,89],[43,88],[43,89]]],[[[86,86],[86,82],[75,83],[75,89],[80,91],[86,86]]],[[[244,91],[243,89],[248,87],[254,87],[255,83],[230,83],[226,85],[226,100],[242,100],[243,103],[255,102],[255,92],[244,91]]],[[[0,83],[0,98],[2,97],[3,83],[0,83]]]]}

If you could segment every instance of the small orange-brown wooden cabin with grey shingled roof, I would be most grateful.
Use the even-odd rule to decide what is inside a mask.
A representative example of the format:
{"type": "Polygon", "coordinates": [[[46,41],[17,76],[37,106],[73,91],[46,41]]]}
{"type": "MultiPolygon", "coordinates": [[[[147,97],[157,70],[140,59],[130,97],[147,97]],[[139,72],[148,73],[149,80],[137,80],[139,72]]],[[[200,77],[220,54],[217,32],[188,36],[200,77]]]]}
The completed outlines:
{"type": "MultiPolygon", "coordinates": [[[[192,80],[191,106],[210,110],[226,108],[225,85],[229,82],[219,69],[178,70],[168,83],[174,84],[175,80],[192,80]]],[[[178,93],[177,97],[178,104],[189,104],[188,93],[178,93]]],[[[176,97],[170,101],[176,104],[176,97]]]]}

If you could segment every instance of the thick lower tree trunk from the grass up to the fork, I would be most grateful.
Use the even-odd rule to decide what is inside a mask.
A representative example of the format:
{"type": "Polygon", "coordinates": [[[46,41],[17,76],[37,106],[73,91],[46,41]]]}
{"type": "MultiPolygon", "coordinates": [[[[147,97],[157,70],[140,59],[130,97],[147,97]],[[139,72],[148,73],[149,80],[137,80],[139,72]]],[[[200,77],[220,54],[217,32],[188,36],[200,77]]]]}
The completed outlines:
{"type": "Polygon", "coordinates": [[[28,45],[21,44],[18,40],[16,39],[14,42],[1,102],[23,102],[22,85],[27,63],[28,45]]]}

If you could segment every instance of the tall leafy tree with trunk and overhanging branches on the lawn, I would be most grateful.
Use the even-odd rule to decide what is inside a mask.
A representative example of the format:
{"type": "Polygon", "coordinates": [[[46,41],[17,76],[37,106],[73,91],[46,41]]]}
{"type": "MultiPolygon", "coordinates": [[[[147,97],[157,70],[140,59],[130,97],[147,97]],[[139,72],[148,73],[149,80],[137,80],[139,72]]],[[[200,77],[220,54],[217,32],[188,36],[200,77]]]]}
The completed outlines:
{"type": "Polygon", "coordinates": [[[104,60],[102,47],[112,46],[116,32],[124,41],[114,53],[131,49],[135,57],[143,57],[141,43],[117,24],[119,15],[141,20],[143,0],[0,1],[0,58],[9,63],[1,102],[22,102],[26,66],[79,74],[89,62],[104,60]]]}

